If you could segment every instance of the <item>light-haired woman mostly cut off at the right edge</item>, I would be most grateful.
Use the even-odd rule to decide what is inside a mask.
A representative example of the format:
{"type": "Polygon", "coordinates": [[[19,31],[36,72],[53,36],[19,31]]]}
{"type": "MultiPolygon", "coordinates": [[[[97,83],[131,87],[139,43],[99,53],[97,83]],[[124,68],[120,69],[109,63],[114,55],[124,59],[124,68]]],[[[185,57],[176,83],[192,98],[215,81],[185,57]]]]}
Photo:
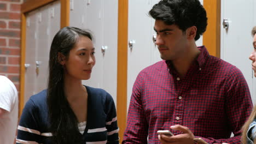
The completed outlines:
{"type": "MultiPolygon", "coordinates": [[[[252,29],[253,35],[253,47],[254,50],[249,56],[252,61],[252,69],[254,71],[254,76],[256,77],[256,27],[252,29]]],[[[245,125],[242,128],[242,144],[256,144],[256,106],[253,107],[252,113],[249,116],[245,125]]]]}

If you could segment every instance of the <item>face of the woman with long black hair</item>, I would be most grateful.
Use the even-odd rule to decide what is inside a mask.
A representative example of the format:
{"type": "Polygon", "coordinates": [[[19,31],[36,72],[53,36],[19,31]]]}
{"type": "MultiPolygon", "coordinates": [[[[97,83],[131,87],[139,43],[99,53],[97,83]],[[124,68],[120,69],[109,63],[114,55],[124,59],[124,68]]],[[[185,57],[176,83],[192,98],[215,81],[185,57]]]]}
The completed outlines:
{"type": "Polygon", "coordinates": [[[63,62],[65,76],[80,80],[88,80],[91,77],[92,68],[95,65],[95,48],[88,37],[79,36],[77,43],[69,52],[68,58],[63,62]]]}

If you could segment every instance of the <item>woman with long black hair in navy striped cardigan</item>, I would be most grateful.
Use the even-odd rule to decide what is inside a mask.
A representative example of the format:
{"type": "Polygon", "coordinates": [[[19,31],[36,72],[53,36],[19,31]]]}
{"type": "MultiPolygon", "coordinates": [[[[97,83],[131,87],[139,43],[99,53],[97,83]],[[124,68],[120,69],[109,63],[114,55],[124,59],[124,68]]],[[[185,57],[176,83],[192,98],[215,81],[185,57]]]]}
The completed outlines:
{"type": "Polygon", "coordinates": [[[119,143],[114,101],[103,89],[83,86],[95,65],[91,34],[62,28],[49,56],[48,88],[26,103],[16,143],[119,143]]]}

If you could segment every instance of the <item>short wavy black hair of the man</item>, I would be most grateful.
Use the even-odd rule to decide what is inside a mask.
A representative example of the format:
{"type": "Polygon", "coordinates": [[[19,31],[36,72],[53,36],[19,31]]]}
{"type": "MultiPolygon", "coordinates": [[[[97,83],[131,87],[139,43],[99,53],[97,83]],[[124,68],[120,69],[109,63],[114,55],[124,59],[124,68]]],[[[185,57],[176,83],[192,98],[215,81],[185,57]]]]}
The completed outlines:
{"type": "Polygon", "coordinates": [[[149,15],[166,25],[177,25],[183,32],[196,26],[195,40],[206,31],[206,11],[198,0],[161,0],[153,6],[149,15]]]}

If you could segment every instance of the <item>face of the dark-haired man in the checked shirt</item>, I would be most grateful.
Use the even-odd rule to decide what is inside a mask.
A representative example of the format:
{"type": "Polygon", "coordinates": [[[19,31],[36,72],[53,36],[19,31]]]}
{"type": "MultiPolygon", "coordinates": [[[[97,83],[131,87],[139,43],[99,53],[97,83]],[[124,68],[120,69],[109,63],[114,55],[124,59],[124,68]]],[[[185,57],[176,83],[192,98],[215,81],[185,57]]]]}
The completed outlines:
{"type": "Polygon", "coordinates": [[[188,39],[177,25],[166,25],[164,21],[156,20],[154,30],[157,34],[155,44],[162,59],[174,61],[185,54],[188,39]]]}

